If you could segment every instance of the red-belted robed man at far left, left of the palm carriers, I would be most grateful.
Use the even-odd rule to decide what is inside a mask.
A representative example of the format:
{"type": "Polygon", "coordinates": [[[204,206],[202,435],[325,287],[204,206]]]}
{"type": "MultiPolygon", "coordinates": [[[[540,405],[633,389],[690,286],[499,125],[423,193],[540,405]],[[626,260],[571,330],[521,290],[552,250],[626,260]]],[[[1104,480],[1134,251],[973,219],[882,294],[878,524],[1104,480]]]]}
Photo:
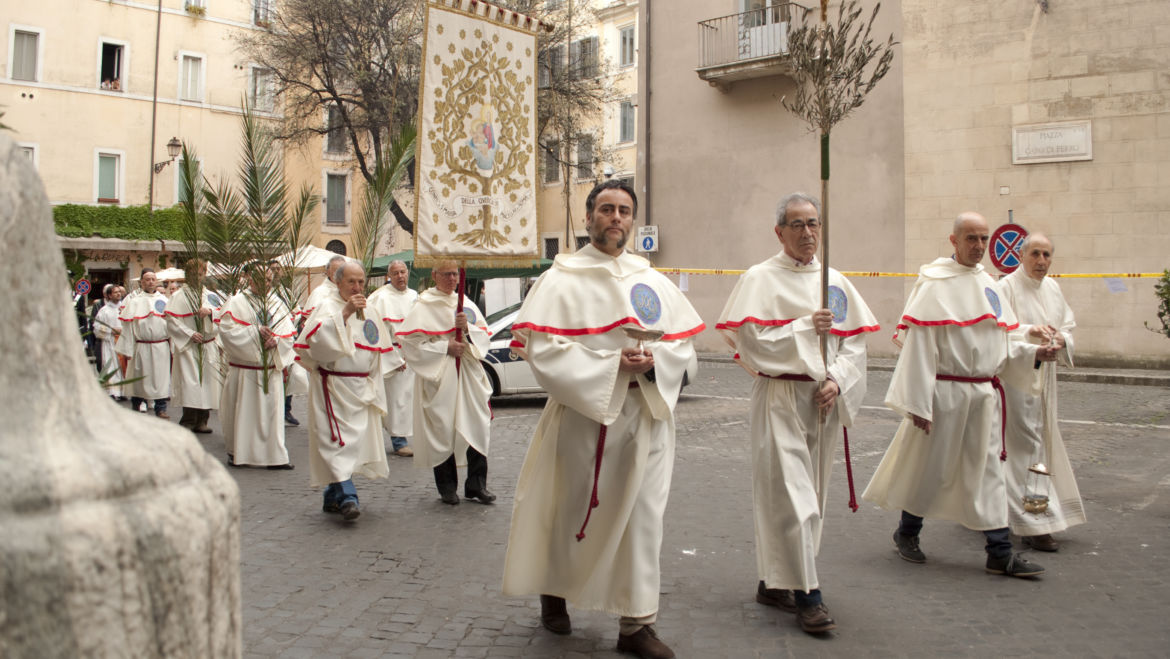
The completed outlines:
{"type": "Polygon", "coordinates": [[[154,270],[144,268],[138,280],[142,288],[122,308],[122,336],[117,351],[130,358],[126,379],[133,392],[130,405],[138,411],[140,404],[153,400],[154,416],[170,419],[166,403],[171,397],[171,341],[166,329],[167,298],[158,290],[154,270]]]}

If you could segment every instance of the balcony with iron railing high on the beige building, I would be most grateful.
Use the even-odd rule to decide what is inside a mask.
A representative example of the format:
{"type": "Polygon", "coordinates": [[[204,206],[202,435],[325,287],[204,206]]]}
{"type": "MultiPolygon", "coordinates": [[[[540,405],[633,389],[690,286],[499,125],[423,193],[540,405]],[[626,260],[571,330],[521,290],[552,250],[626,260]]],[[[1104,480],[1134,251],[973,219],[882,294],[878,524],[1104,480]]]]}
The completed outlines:
{"type": "Polygon", "coordinates": [[[725,90],[739,80],[790,75],[789,32],[807,13],[784,2],[698,21],[698,77],[725,90]]]}

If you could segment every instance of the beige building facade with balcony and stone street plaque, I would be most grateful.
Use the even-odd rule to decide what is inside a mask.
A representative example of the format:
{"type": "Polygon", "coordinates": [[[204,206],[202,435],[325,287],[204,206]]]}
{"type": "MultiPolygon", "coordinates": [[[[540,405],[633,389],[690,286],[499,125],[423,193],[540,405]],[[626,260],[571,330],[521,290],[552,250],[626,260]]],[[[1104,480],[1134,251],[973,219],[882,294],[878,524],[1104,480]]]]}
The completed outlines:
{"type": "MultiPolygon", "coordinates": [[[[656,265],[746,268],[779,250],[776,201],[819,193],[817,138],[779,104],[793,83],[778,23],[799,12],[773,0],[642,4],[638,184],[640,221],[660,231],[656,265]]],[[[1010,215],[1048,234],[1058,274],[1170,267],[1166,2],[887,1],[874,32],[901,44],[832,135],[833,267],[916,273],[951,253],[965,210],[992,229],[1010,215]]],[[[994,270],[990,254],[984,266],[994,270]]],[[[870,352],[895,353],[913,279],[854,282],[883,325],[870,352]]],[[[687,283],[711,324],[735,277],[687,283]]],[[[1157,324],[1155,280],[1060,283],[1079,363],[1170,364],[1170,341],[1143,327],[1157,324]]],[[[713,331],[700,345],[723,349],[713,331]]]]}

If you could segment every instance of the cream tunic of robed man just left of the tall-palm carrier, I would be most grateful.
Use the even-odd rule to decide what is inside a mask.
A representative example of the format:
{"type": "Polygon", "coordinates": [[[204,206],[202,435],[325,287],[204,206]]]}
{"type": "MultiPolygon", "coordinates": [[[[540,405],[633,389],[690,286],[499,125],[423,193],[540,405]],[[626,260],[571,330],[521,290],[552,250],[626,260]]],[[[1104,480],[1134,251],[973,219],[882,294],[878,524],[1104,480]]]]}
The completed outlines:
{"type": "Polygon", "coordinates": [[[166,306],[166,328],[173,353],[171,405],[218,410],[222,389],[219,344],[214,341],[195,343],[191,337],[197,331],[209,338],[219,334],[214,318],[223,301],[219,294],[205,288],[201,307],[211,310],[212,315],[199,318],[197,324],[188,290],[186,286],[180,288],[166,306]]]}

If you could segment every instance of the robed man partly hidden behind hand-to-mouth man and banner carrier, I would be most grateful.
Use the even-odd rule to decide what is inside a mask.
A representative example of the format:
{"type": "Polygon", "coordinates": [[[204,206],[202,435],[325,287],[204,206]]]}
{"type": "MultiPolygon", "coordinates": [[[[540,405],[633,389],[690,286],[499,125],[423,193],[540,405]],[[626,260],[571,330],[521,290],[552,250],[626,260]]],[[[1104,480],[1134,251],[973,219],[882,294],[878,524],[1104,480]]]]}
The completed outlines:
{"type": "MultiPolygon", "coordinates": [[[[419,294],[408,284],[411,273],[402,261],[393,261],[386,269],[385,286],[370,295],[370,307],[386,323],[386,328],[398,332],[406,314],[418,301],[419,294]]],[[[386,373],[386,416],[381,425],[390,433],[391,451],[400,458],[414,455],[410,437],[414,434],[414,371],[406,363],[386,373]]]]}

